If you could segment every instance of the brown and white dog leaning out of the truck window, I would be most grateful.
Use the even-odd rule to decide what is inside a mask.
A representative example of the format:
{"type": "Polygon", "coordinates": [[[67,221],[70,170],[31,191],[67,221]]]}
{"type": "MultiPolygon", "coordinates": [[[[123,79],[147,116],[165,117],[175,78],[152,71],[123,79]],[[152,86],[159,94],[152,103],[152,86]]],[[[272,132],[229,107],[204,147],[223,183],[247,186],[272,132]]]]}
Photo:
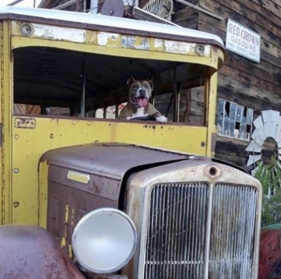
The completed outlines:
{"type": "Polygon", "coordinates": [[[149,102],[153,90],[153,82],[145,80],[134,80],[130,78],[129,100],[126,106],[121,110],[119,119],[132,119],[135,117],[152,117],[161,123],[167,122],[167,117],[161,113],[149,102]]]}

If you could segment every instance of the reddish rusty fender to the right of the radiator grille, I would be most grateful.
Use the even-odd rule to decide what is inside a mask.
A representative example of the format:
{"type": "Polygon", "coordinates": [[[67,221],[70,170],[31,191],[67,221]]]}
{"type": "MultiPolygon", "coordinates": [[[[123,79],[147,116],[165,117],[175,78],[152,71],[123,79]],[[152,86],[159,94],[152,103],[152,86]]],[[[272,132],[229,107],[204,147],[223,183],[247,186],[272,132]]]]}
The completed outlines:
{"type": "Polygon", "coordinates": [[[260,233],[258,279],[281,278],[281,224],[263,228],[260,233]]]}

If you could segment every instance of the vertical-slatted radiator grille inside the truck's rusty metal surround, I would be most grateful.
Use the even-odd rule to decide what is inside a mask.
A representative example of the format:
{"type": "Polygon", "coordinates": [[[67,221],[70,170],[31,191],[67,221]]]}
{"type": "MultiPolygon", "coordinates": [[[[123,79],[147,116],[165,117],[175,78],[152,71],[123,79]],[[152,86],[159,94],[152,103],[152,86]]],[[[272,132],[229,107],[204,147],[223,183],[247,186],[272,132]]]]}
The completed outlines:
{"type": "Polygon", "coordinates": [[[144,278],[251,279],[256,201],[245,186],[155,186],[144,278]]]}

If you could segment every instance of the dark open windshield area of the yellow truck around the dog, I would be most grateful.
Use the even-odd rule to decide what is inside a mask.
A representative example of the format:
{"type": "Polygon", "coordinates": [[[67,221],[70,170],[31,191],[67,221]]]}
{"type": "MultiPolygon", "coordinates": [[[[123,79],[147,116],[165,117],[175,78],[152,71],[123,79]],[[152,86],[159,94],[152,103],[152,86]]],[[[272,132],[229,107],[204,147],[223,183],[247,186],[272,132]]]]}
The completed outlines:
{"type": "Polygon", "coordinates": [[[128,78],[150,79],[150,102],[170,121],[205,123],[206,66],[82,53],[50,47],[14,50],[14,114],[115,119],[128,78]]]}

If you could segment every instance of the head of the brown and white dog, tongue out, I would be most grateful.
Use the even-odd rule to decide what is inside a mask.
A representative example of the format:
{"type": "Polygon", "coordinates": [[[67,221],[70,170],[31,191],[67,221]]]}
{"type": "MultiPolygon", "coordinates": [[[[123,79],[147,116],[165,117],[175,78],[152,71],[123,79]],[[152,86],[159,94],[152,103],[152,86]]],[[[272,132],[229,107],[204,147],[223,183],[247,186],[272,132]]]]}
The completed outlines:
{"type": "Polygon", "coordinates": [[[127,84],[129,85],[129,101],[131,104],[137,108],[145,107],[151,97],[153,82],[130,78],[127,84]]]}

